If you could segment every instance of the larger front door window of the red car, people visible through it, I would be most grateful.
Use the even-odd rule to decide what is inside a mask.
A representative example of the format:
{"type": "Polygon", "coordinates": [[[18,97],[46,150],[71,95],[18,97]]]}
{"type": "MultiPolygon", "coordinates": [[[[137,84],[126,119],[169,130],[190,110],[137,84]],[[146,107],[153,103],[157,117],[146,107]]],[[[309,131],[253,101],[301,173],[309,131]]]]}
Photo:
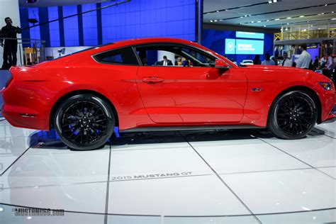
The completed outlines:
{"type": "Polygon", "coordinates": [[[215,57],[194,47],[180,45],[148,45],[136,48],[144,66],[213,67],[215,57]]]}

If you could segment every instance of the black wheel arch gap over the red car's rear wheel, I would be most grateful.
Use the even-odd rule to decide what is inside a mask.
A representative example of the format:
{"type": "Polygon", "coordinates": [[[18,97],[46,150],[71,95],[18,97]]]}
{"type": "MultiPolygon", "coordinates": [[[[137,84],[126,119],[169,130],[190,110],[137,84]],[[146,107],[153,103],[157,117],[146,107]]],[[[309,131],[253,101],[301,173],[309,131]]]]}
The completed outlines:
{"type": "Polygon", "coordinates": [[[61,96],[59,99],[57,99],[57,101],[54,103],[54,105],[52,106],[52,109],[50,111],[50,117],[49,117],[49,127],[50,129],[53,128],[54,126],[54,118],[55,118],[55,113],[57,111],[58,106],[60,106],[60,103],[62,103],[62,101],[65,101],[65,99],[68,99],[71,96],[75,96],[75,95],[79,95],[79,94],[92,94],[94,96],[98,96],[99,98],[103,99],[104,101],[108,102],[108,104],[111,106],[114,117],[116,118],[116,124],[115,126],[119,126],[119,118],[118,118],[118,112],[116,110],[116,107],[113,105],[113,103],[103,94],[94,91],[94,90],[89,90],[89,89],[78,89],[78,90],[74,90],[74,91],[69,91],[67,92],[67,94],[64,94],[63,96],[61,96]]]}

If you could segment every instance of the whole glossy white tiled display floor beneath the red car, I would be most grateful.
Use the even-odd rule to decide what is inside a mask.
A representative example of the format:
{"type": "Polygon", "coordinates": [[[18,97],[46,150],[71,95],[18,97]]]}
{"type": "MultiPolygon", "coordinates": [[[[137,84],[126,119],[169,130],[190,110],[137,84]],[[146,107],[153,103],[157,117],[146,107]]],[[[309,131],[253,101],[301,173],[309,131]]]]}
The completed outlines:
{"type": "Polygon", "coordinates": [[[332,122],[302,140],[260,130],[150,133],[79,152],[53,131],[0,121],[0,220],[332,223],[335,138],[332,122]],[[18,206],[64,209],[65,215],[13,216],[18,206]]]}

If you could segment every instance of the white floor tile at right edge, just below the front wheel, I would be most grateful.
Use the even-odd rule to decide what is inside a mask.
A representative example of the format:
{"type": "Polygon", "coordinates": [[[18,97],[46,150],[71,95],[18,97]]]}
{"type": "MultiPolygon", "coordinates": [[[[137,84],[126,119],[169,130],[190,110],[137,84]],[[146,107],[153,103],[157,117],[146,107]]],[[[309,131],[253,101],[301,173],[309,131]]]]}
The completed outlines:
{"type": "Polygon", "coordinates": [[[336,140],[333,138],[324,136],[323,138],[301,141],[278,140],[270,142],[270,144],[313,167],[336,166],[336,140]]]}

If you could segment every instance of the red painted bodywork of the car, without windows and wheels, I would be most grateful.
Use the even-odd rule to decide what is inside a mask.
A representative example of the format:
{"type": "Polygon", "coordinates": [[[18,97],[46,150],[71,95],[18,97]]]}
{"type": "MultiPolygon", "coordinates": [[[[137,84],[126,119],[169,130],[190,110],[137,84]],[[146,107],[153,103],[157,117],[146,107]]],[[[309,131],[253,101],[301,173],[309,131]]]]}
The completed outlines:
{"type": "Polygon", "coordinates": [[[50,113],[55,103],[80,90],[94,91],[108,99],[118,113],[120,130],[211,124],[265,127],[271,103],[281,91],[293,86],[304,86],[318,95],[321,121],[330,117],[335,104],[335,92],[325,91],[318,84],[330,82],[321,74],[291,67],[237,67],[206,47],[173,38],[121,41],[33,67],[12,67],[11,74],[13,80],[2,91],[3,114],[14,126],[38,130],[50,130],[50,113]],[[223,71],[213,67],[107,65],[91,57],[145,43],[198,47],[231,68],[223,71]],[[160,81],[148,84],[142,80],[146,77],[159,77],[160,81]]]}

